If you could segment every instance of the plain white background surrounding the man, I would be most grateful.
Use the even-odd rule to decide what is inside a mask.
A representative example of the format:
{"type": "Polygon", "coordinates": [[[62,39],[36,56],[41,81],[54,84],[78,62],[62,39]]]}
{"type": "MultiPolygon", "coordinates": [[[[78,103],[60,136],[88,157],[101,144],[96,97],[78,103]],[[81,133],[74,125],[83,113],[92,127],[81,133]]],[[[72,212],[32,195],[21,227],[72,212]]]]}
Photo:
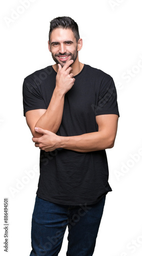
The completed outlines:
{"type": "MultiPolygon", "coordinates": [[[[9,198],[9,255],[28,256],[31,251],[39,149],[35,148],[23,117],[22,83],[34,71],[54,64],[48,50],[48,33],[50,20],[58,16],[75,19],[83,38],[80,61],[110,74],[117,89],[119,127],[114,147],[107,150],[113,191],[107,195],[94,255],[141,255],[141,7],[141,0],[3,1],[1,255],[6,255],[5,197],[9,198]],[[21,2],[29,2],[29,6],[21,8],[21,2]],[[28,178],[30,173],[33,177],[28,178]]],[[[66,249],[67,229],[59,255],[66,255],[66,249]]]]}

